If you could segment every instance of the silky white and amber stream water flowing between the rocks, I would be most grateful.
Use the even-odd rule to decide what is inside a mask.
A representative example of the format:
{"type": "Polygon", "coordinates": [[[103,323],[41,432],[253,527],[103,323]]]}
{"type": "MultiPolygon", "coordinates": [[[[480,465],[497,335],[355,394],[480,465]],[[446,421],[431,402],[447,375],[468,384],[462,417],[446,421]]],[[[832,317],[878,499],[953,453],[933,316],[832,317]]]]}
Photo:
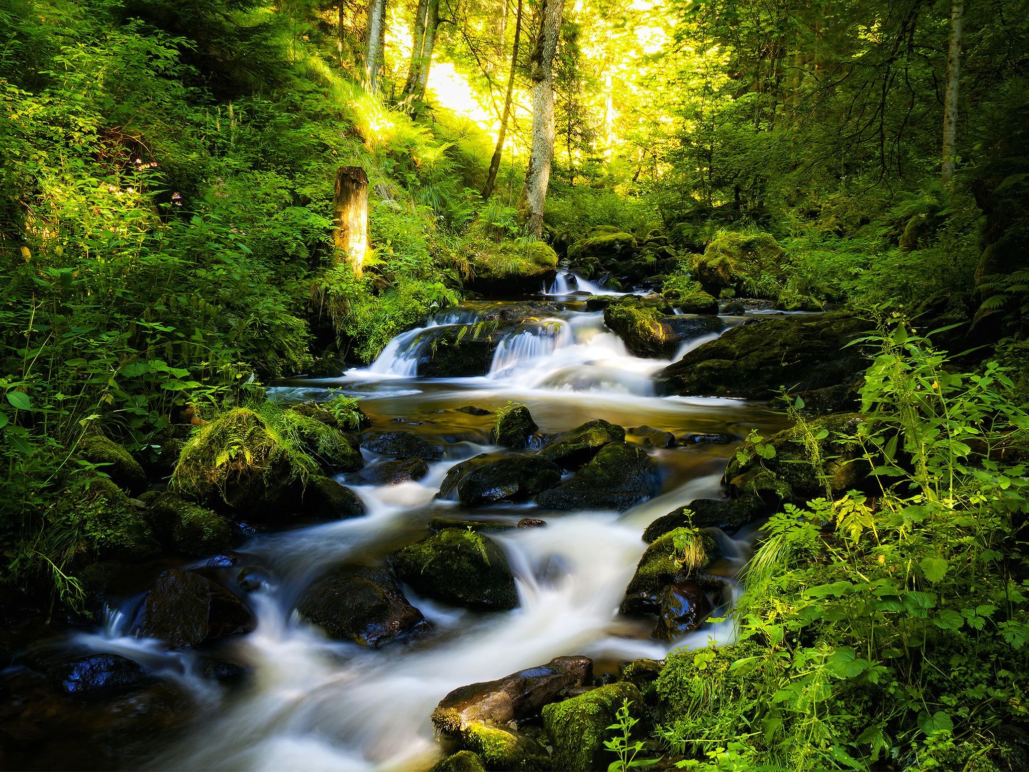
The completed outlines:
{"type": "MultiPolygon", "coordinates": [[[[557,289],[567,292],[568,287],[557,289]]],[[[675,647],[704,645],[712,637],[732,637],[733,630],[722,623],[672,643],[659,642],[649,638],[652,623],[619,617],[616,609],[645,549],[640,538],[644,527],[694,498],[719,497],[719,477],[739,441],[751,428],[772,428],[781,419],[740,400],[657,396],[651,376],[667,362],[632,356],[606,329],[602,313],[586,312],[574,303],[502,334],[487,375],[418,378],[418,355],[430,345],[433,328],[474,324],[485,308],[480,304],[449,311],[397,336],[367,367],[273,390],[276,398],[287,401],[324,399],[335,390],[360,396],[372,421],[369,431],[414,431],[446,451],[445,459],[431,464],[418,482],[376,486],[365,483],[361,472],[341,476],[367,504],[365,517],[254,534],[239,550],[241,565],[212,574],[238,590],[243,572],[256,587],[248,595],[256,629],[218,651],[251,669],[242,686],[223,688],[202,677],[200,655],[189,650],[129,635],[141,604],[138,594],[109,609],[101,628],[67,641],[130,657],[189,695],[194,720],[185,730],[150,738],[148,753],[129,766],[427,769],[440,752],[429,715],[457,687],[560,655],[592,657],[603,671],[636,658],[660,659],[675,647]],[[450,466],[498,450],[488,444],[493,415],[456,409],[475,406],[492,412],[508,400],[527,405],[543,433],[594,418],[673,432],[680,437],[675,447],[650,451],[663,469],[662,492],[624,515],[552,513],[532,503],[465,511],[435,498],[450,466]],[[713,432],[734,442],[693,441],[713,432]],[[298,620],[295,603],[313,580],[342,563],[384,564],[390,551],[426,535],[427,521],[438,516],[546,522],[545,527],[491,533],[516,574],[520,608],[474,612],[409,590],[409,599],[430,620],[432,631],[381,650],[330,640],[298,620]]],[[[713,337],[686,341],[682,349],[713,337]]],[[[369,464],[380,460],[364,453],[369,464]]],[[[733,537],[719,532],[718,537],[725,557],[713,570],[733,577],[749,555],[753,531],[733,537]]]]}

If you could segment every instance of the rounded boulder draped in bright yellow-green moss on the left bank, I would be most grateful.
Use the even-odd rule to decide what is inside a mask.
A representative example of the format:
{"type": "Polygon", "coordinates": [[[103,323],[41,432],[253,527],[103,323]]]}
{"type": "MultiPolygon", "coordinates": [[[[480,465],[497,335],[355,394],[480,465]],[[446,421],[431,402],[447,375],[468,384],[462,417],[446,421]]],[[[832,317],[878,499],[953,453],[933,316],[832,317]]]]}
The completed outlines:
{"type": "Polygon", "coordinates": [[[248,408],[218,416],[182,449],[171,488],[244,515],[275,507],[297,476],[286,443],[248,408]]]}

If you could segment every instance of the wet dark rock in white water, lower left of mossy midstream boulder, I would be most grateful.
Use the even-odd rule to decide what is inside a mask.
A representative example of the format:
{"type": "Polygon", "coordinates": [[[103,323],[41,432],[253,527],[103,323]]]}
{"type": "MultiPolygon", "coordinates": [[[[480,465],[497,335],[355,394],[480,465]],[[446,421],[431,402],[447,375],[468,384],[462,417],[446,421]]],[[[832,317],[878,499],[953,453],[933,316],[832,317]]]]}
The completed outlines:
{"type": "Polygon", "coordinates": [[[340,568],[304,595],[300,616],[333,638],[378,647],[398,636],[428,627],[422,612],[384,568],[340,568]]]}

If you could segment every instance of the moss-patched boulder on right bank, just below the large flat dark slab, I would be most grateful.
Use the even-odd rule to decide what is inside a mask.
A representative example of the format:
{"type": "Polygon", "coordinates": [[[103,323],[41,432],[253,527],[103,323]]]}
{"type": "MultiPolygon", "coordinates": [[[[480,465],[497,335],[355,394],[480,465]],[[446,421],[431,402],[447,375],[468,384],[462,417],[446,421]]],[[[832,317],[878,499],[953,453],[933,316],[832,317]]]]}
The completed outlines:
{"type": "Polygon", "coordinates": [[[748,460],[741,462],[734,456],[722,482],[730,486],[735,498],[745,498],[759,481],[758,476],[767,472],[784,482],[799,502],[819,496],[837,497],[859,488],[872,467],[862,457],[860,443],[852,437],[866,420],[859,413],[843,413],[802,422],[762,441],[775,449],[771,458],[758,456],[747,444],[743,450],[748,460]]]}

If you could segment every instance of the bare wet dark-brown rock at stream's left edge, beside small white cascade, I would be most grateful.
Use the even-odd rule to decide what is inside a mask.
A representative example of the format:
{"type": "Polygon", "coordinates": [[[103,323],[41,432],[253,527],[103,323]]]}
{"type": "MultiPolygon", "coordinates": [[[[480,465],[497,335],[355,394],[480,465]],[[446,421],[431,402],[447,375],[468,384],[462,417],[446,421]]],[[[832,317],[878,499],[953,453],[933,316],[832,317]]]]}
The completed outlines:
{"type": "Polygon", "coordinates": [[[255,620],[242,600],[192,571],[165,571],[146,596],[139,632],[176,645],[197,645],[249,632],[255,620]]]}

